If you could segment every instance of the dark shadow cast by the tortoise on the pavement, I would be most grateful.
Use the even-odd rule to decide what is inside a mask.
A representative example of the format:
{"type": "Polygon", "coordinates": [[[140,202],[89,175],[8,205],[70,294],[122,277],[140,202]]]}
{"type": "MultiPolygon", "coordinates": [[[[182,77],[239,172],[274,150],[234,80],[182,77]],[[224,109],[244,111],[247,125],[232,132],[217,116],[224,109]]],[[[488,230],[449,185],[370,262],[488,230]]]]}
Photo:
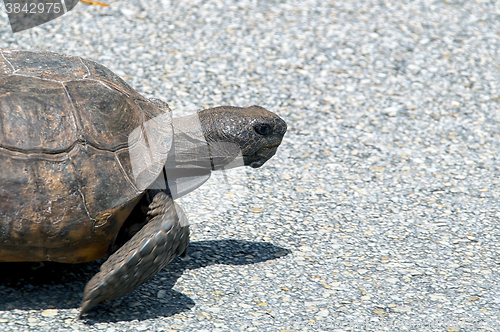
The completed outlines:
{"type": "MultiPolygon", "coordinates": [[[[85,316],[87,324],[168,317],[195,306],[172,289],[184,270],[222,265],[249,265],[286,256],[290,250],[266,242],[213,240],[191,242],[188,260],[176,258],[151,280],[126,296],[104,301],[85,316]],[[163,290],[162,298],[157,289],[163,290]]],[[[0,263],[0,311],[78,309],[85,284],[104,260],[84,264],[0,263]]]]}

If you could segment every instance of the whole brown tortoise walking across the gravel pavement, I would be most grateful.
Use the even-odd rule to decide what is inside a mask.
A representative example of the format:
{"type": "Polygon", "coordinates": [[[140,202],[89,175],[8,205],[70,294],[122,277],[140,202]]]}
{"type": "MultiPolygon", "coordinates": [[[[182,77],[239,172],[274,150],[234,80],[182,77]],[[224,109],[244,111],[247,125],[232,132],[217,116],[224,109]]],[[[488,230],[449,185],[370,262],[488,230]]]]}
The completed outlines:
{"type": "Polygon", "coordinates": [[[213,170],[262,166],[286,129],[259,106],[172,119],[167,103],[96,62],[0,50],[0,262],[108,257],[82,317],[186,255],[174,199],[213,170]]]}

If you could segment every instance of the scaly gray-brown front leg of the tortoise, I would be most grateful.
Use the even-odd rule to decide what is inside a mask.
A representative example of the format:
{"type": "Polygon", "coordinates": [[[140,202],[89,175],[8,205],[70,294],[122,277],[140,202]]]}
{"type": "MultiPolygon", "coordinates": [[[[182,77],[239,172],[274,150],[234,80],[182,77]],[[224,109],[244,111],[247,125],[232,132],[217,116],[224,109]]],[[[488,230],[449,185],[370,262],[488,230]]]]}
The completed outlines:
{"type": "Polygon", "coordinates": [[[186,252],[189,227],[180,223],[171,196],[158,192],[148,216],[151,220],[87,283],[80,318],[98,303],[127,294],[186,252]]]}

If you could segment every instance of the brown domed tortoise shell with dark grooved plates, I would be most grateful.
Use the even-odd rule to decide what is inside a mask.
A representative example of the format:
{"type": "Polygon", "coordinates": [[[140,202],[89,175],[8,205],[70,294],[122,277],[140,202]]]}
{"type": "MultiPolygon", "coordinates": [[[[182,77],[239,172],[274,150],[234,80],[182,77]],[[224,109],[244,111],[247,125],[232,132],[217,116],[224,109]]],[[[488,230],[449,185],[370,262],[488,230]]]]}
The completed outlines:
{"type": "Polygon", "coordinates": [[[144,193],[134,181],[131,134],[159,115],[170,119],[163,134],[171,144],[168,105],[106,67],[0,50],[0,261],[109,255],[144,193]]]}

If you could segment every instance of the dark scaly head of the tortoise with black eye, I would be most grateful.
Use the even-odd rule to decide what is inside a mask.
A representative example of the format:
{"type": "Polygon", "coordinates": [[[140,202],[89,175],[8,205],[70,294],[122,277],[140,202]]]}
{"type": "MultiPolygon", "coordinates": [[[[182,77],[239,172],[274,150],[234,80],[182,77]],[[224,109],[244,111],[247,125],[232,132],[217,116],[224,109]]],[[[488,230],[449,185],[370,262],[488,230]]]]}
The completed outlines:
{"type": "Polygon", "coordinates": [[[244,165],[260,167],[283,140],[286,123],[260,106],[219,106],[198,112],[208,142],[212,168],[220,169],[240,153],[244,165]]]}

